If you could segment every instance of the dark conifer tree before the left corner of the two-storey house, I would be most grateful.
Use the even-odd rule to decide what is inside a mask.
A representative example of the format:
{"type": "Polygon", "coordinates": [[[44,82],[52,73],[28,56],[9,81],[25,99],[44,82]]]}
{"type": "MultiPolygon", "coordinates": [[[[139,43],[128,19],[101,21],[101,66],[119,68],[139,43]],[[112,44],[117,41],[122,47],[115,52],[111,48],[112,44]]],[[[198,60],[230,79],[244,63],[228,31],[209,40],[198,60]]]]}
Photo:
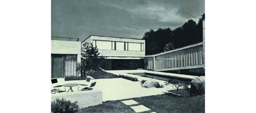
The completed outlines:
{"type": "Polygon", "coordinates": [[[93,47],[93,44],[90,44],[91,46],[86,46],[86,54],[88,55],[88,57],[86,57],[86,59],[84,60],[85,64],[86,64],[86,69],[85,70],[99,70],[100,68],[102,68],[103,63],[104,63],[104,59],[103,57],[97,57],[100,53],[97,46],[93,47]]]}

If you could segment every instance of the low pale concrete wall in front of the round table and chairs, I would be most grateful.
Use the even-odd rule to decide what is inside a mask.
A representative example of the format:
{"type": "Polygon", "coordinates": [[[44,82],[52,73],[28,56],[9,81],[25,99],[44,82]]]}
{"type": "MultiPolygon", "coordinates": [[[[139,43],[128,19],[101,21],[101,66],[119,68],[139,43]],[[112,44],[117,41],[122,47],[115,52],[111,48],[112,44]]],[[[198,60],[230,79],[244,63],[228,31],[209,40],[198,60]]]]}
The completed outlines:
{"type": "Polygon", "coordinates": [[[57,98],[65,98],[74,102],[78,100],[79,108],[85,108],[88,106],[95,106],[102,104],[102,91],[100,90],[90,90],[90,91],[78,91],[78,92],[64,92],[52,94],[51,100],[56,100],[57,98]]]}

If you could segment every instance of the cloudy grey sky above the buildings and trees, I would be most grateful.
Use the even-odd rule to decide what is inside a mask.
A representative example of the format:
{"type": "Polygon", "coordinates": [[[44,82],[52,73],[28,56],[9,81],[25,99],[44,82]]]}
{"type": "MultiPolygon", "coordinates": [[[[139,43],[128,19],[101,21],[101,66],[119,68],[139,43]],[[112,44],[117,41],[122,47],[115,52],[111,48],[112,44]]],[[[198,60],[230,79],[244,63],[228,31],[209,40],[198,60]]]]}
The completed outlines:
{"type": "Polygon", "coordinates": [[[204,0],[52,0],[51,35],[81,42],[90,35],[141,39],[150,29],[198,22],[203,13],[204,0]]]}

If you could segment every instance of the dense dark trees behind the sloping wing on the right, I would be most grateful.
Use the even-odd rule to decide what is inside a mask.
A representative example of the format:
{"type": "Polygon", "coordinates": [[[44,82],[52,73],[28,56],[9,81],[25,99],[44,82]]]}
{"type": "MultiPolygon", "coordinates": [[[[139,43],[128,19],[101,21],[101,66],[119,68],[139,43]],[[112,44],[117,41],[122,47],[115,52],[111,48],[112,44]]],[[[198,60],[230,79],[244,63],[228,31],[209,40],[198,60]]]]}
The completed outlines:
{"type": "Polygon", "coordinates": [[[150,29],[148,32],[144,33],[142,38],[146,42],[146,55],[157,54],[203,42],[204,19],[205,14],[199,18],[197,24],[193,20],[188,20],[188,22],[174,30],[170,28],[159,28],[156,31],[150,29]]]}

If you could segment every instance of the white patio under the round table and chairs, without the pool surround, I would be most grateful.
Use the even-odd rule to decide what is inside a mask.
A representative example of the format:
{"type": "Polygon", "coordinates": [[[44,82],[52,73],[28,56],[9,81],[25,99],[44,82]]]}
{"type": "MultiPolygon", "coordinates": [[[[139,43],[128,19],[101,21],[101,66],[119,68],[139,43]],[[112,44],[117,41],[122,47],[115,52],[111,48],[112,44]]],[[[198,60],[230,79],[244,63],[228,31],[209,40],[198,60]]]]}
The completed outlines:
{"type": "MultiPolygon", "coordinates": [[[[91,80],[89,83],[86,80],[79,80],[79,81],[64,81],[64,78],[58,78],[57,84],[52,84],[53,86],[56,85],[63,85],[68,83],[78,83],[78,84],[90,84],[92,82],[96,82],[95,88],[93,90],[100,90],[102,91],[102,101],[108,100],[121,100],[121,99],[128,99],[128,98],[135,98],[135,97],[144,97],[144,96],[151,96],[151,95],[160,95],[164,94],[163,92],[167,92],[166,88],[142,88],[140,85],[140,81],[133,82],[123,78],[109,78],[109,79],[94,79],[91,80]]],[[[81,89],[79,85],[79,90],[81,89]]],[[[63,93],[73,93],[67,92],[69,87],[65,87],[66,92],[55,93],[52,96],[56,95],[63,95],[63,93]]],[[[57,88],[58,89],[58,88],[57,88]]],[[[78,86],[72,87],[74,92],[78,91],[78,86]]],[[[65,90],[64,87],[61,87],[61,90],[65,90]]]]}

